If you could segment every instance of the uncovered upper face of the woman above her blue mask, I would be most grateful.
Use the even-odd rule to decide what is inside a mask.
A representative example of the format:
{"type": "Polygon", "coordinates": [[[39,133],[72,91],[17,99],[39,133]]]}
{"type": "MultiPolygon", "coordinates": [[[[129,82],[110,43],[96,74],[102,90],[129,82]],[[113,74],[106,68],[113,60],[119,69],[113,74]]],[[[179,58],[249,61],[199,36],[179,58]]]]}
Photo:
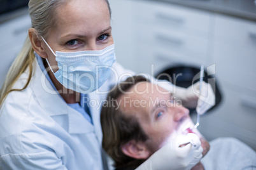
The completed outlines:
{"type": "MultiPolygon", "coordinates": [[[[101,50],[113,44],[110,11],[104,0],[72,0],[57,7],[46,41],[53,51],[101,50]]],[[[55,56],[45,45],[51,65],[55,56]]]]}

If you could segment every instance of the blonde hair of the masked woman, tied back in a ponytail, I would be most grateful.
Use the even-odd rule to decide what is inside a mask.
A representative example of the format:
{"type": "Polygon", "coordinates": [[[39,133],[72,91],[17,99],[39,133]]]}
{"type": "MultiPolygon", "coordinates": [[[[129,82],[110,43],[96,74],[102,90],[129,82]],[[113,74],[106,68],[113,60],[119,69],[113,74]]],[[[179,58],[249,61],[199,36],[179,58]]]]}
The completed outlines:
{"type": "MultiPolygon", "coordinates": [[[[50,27],[54,26],[55,23],[55,8],[60,4],[66,3],[68,0],[30,0],[29,1],[29,15],[31,17],[31,27],[36,30],[36,35],[45,37],[48,36],[48,30],[50,27]]],[[[108,4],[110,10],[110,5],[108,0],[104,0],[108,4]]],[[[110,10],[111,15],[111,10],[110,10]]],[[[24,46],[12,63],[8,74],[6,75],[6,80],[0,90],[0,108],[6,96],[11,93],[11,91],[22,91],[29,85],[31,81],[33,72],[33,62],[34,62],[34,50],[31,45],[29,36],[25,39],[24,46]],[[27,83],[22,89],[12,89],[15,82],[18,80],[20,75],[29,68],[29,77],[27,83]]]]}

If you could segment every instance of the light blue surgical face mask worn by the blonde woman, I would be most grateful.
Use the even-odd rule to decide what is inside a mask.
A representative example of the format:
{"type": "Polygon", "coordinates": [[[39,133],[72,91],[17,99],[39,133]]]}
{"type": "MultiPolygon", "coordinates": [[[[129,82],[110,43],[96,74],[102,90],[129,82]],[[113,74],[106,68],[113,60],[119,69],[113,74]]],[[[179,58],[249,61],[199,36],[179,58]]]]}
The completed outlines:
{"type": "MultiPolygon", "coordinates": [[[[43,38],[43,37],[42,37],[43,38]]],[[[43,39],[45,41],[45,39],[43,39]]],[[[45,41],[48,48],[50,46],[45,41]]],[[[90,93],[100,88],[110,75],[115,63],[115,45],[108,46],[99,51],[53,52],[56,56],[59,70],[53,72],[56,79],[67,89],[78,93],[90,93]]]]}

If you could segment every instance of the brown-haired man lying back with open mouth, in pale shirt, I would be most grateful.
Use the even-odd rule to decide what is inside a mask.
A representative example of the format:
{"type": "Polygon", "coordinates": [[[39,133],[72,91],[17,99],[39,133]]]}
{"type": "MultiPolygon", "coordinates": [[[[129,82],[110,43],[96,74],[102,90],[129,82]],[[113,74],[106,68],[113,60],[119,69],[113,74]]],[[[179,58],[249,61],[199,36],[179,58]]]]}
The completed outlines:
{"type": "MultiPolygon", "coordinates": [[[[193,129],[189,111],[181,101],[142,76],[129,77],[108,94],[101,110],[101,125],[103,148],[116,167],[135,169],[178,134],[197,134],[201,138],[203,156],[210,149],[199,131],[193,129]]],[[[203,164],[199,162],[192,169],[256,168],[255,152],[240,141],[217,140],[211,150],[209,156],[201,160],[203,164]],[[229,155],[233,153],[239,155],[229,155]],[[239,167],[234,162],[236,159],[239,159],[239,167]]]]}

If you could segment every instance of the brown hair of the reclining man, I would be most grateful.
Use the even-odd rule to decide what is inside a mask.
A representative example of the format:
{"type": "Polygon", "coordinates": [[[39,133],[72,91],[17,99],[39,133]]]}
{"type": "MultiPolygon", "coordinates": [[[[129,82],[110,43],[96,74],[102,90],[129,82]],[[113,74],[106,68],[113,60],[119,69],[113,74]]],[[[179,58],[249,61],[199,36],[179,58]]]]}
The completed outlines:
{"type": "Polygon", "coordinates": [[[129,77],[108,94],[106,103],[101,110],[101,128],[103,130],[103,148],[115,160],[115,167],[136,168],[145,159],[134,159],[122,152],[122,146],[131,140],[146,141],[148,136],[139,122],[131,115],[125,115],[118,108],[118,98],[129,91],[138,82],[149,82],[141,75],[129,77]]]}

